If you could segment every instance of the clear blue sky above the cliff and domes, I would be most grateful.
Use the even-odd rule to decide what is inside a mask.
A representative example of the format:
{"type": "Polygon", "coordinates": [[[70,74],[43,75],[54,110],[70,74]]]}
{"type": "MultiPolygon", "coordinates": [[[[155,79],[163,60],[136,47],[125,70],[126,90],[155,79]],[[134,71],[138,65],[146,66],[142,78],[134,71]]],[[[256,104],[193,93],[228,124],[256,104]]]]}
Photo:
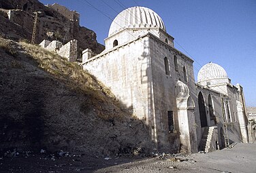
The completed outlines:
{"type": "Polygon", "coordinates": [[[138,5],[153,9],[174,37],[174,47],[195,60],[195,79],[204,64],[217,63],[231,83],[243,86],[246,106],[256,107],[256,0],[39,1],[79,12],[80,25],[95,31],[102,44],[112,20],[123,9],[138,5]]]}

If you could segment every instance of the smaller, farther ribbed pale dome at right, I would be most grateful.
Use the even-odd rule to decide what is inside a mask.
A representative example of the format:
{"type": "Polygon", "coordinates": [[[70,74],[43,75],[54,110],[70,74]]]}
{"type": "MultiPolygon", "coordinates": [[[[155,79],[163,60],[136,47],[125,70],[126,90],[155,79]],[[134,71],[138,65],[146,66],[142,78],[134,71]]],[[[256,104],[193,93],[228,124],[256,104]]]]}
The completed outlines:
{"type": "Polygon", "coordinates": [[[205,64],[198,72],[197,81],[228,78],[222,66],[212,62],[205,64]]]}

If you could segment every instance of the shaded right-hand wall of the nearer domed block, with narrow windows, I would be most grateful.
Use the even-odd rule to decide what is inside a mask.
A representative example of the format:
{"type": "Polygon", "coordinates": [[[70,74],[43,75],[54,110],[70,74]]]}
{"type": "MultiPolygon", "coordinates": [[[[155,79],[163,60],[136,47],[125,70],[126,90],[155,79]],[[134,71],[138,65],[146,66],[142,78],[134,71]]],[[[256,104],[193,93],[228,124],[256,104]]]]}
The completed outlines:
{"type": "MultiPolygon", "coordinates": [[[[182,119],[182,117],[178,116],[178,106],[176,104],[176,94],[174,87],[178,80],[180,80],[189,87],[189,94],[193,95],[193,92],[195,91],[194,85],[189,84],[194,83],[192,64],[193,61],[180,54],[180,52],[178,52],[177,50],[174,50],[172,45],[169,45],[153,36],[150,37],[150,56],[152,58],[151,64],[153,74],[153,96],[155,106],[155,121],[158,125],[156,128],[159,148],[163,151],[167,151],[169,149],[173,152],[176,152],[180,147],[185,151],[196,152],[197,137],[194,132],[195,120],[193,119],[196,115],[188,115],[187,117],[189,118],[185,116],[186,119],[182,119]],[[174,66],[174,56],[176,56],[178,60],[177,71],[174,66]],[[165,57],[168,61],[170,75],[165,74],[165,57]],[[188,81],[185,81],[183,75],[183,66],[185,66],[187,69],[188,81]],[[168,130],[169,126],[167,111],[173,112],[174,132],[169,132],[168,130]],[[182,121],[183,123],[182,129],[179,125],[180,121],[182,121]],[[187,129],[185,130],[185,128],[187,129]],[[180,132],[186,132],[186,134],[180,134],[180,132]],[[189,134],[189,132],[191,133],[189,134]],[[182,139],[182,145],[179,146],[177,145],[177,138],[178,136],[182,135],[185,137],[184,139],[182,139]],[[190,146],[189,141],[193,141],[193,146],[190,146]]],[[[195,100],[195,98],[193,98],[193,100],[195,100]]]]}

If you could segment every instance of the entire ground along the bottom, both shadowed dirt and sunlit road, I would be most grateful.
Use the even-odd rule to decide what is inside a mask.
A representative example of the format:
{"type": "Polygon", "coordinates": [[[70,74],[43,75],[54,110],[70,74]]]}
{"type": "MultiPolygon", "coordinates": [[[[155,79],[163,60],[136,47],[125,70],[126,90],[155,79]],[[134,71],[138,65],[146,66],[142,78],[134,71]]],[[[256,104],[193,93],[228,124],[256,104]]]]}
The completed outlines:
{"type": "Polygon", "coordinates": [[[256,172],[256,144],[191,155],[86,157],[64,153],[20,153],[1,157],[0,172],[256,172]],[[66,156],[65,156],[66,155],[66,156]]]}

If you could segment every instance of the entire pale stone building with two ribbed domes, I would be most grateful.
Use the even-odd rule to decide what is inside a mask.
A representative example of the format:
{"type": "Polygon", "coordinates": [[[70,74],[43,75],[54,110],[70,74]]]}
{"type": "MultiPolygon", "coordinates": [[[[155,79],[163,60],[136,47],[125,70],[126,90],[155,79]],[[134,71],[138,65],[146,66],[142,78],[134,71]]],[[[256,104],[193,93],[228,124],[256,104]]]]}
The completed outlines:
{"type": "Polygon", "coordinates": [[[113,20],[106,49],[84,50],[83,68],[107,85],[144,121],[157,151],[212,151],[247,142],[244,96],[212,62],[199,71],[174,47],[163,20],[146,7],[130,7],[113,20]]]}

